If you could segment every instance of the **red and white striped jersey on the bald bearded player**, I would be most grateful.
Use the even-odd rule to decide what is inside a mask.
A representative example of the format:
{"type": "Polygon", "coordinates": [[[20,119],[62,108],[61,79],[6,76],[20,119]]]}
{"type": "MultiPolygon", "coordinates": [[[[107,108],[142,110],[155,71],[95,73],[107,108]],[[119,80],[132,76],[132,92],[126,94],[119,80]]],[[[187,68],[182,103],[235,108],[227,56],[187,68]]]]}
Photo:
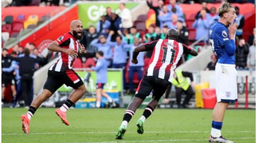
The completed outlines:
{"type": "MultiPolygon", "coordinates": [[[[56,40],[61,48],[71,48],[77,51],[79,50],[79,42],[71,33],[65,33],[63,36],[60,36],[56,40]]],[[[49,70],[50,71],[58,71],[64,72],[65,69],[72,69],[72,66],[76,60],[76,57],[69,56],[66,53],[59,52],[58,53],[59,59],[56,63],[54,63],[49,70]]]]}

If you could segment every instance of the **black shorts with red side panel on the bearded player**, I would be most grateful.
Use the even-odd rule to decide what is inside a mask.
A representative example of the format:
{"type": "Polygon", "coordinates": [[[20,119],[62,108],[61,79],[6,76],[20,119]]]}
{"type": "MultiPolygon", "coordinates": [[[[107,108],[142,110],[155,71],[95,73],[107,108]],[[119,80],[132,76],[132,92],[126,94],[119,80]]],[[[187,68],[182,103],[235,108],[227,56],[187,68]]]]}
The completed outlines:
{"type": "Polygon", "coordinates": [[[63,84],[74,89],[82,86],[84,83],[73,69],[66,69],[65,72],[48,70],[48,77],[43,89],[48,89],[52,94],[56,92],[63,84]]]}

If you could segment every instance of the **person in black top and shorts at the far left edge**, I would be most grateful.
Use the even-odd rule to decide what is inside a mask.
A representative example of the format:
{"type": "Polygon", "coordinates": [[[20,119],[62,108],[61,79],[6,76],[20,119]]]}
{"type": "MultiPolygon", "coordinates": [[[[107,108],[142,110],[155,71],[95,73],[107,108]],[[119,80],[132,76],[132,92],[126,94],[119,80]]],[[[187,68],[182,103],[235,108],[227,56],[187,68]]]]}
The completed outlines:
{"type": "Polygon", "coordinates": [[[16,95],[16,89],[15,89],[15,81],[14,81],[14,70],[3,70],[5,68],[9,68],[12,65],[12,60],[8,56],[8,50],[6,48],[3,48],[2,51],[2,102],[5,97],[5,89],[8,87],[8,85],[11,85],[12,90],[12,96],[14,97],[16,95]]]}

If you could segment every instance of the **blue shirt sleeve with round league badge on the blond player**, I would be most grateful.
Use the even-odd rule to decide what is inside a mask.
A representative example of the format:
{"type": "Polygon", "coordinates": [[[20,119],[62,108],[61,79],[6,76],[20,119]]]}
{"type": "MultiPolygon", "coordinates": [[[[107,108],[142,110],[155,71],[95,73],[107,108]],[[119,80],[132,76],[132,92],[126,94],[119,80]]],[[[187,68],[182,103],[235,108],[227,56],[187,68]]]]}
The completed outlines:
{"type": "Polygon", "coordinates": [[[230,44],[230,39],[228,37],[228,30],[225,27],[216,27],[214,32],[214,37],[217,39],[221,46],[230,44]]]}

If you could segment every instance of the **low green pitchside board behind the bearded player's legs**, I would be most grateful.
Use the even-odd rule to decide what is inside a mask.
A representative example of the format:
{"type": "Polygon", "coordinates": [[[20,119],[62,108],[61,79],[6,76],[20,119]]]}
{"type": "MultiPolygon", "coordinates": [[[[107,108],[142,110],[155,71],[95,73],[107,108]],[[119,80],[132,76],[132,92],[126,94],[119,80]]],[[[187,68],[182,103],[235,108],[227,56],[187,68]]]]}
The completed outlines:
{"type": "MultiPolygon", "coordinates": [[[[85,82],[85,76],[87,74],[87,71],[76,71],[77,74],[80,76],[80,78],[85,82]]],[[[91,77],[89,78],[89,83],[85,83],[86,89],[91,89],[89,91],[96,92],[96,72],[91,71],[91,77]]],[[[117,90],[118,92],[121,92],[123,89],[123,75],[122,70],[120,71],[108,71],[108,81],[104,85],[104,90],[117,90]]],[[[63,84],[62,87],[60,87],[57,91],[58,92],[71,92],[72,87],[68,87],[65,84],[63,84]]]]}

